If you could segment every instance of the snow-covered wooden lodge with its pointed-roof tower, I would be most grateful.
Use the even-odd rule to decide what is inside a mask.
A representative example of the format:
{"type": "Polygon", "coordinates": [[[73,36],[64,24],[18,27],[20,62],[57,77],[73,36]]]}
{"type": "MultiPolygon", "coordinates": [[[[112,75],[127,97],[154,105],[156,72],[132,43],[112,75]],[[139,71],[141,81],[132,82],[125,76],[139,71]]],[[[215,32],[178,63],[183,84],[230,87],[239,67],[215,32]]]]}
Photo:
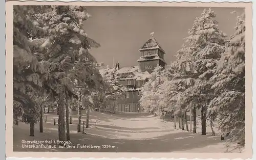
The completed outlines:
{"type": "Polygon", "coordinates": [[[148,81],[150,73],[159,64],[165,67],[164,50],[152,36],[139,49],[140,57],[137,60],[138,66],[120,67],[115,65],[116,73],[120,77],[120,83],[125,86],[125,98],[118,99],[116,111],[119,112],[141,112],[139,103],[141,87],[148,81]]]}

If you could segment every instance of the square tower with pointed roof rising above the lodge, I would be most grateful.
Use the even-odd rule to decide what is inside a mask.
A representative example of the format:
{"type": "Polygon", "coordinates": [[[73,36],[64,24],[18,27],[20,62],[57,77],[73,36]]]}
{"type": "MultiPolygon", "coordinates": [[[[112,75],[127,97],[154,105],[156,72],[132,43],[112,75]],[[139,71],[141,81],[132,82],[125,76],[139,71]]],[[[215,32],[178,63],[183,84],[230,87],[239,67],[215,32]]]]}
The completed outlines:
{"type": "Polygon", "coordinates": [[[149,73],[152,73],[157,65],[162,67],[166,65],[166,62],[164,61],[165,51],[153,37],[153,34],[139,51],[141,55],[137,62],[139,63],[140,72],[148,71],[149,73]]]}

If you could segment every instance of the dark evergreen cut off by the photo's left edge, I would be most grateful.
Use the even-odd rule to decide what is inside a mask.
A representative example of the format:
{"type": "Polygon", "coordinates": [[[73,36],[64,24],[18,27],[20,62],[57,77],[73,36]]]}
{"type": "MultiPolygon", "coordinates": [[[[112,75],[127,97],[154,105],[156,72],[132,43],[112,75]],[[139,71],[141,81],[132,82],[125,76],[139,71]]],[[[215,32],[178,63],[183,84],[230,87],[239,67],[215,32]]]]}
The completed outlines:
{"type": "Polygon", "coordinates": [[[45,93],[41,76],[45,69],[31,51],[28,37],[44,34],[27,16],[31,8],[13,7],[13,119],[18,124],[19,117],[30,123],[30,135],[34,136],[34,123],[39,117],[40,106],[35,98],[45,93]]]}

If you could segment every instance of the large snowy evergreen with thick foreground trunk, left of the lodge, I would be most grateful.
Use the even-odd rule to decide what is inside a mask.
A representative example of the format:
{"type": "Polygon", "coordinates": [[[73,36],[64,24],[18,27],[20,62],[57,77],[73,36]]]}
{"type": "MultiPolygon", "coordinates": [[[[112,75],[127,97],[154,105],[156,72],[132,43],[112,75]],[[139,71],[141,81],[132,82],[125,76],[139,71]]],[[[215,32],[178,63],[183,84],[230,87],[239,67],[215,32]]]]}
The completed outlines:
{"type": "Polygon", "coordinates": [[[32,13],[46,33],[31,37],[33,50],[44,66],[44,85],[58,99],[59,140],[66,139],[65,99],[78,98],[75,88],[85,95],[102,84],[91,47],[99,44],[82,29],[90,15],[82,6],[44,6],[32,13]],[[77,83],[75,83],[77,81],[77,83]]]}

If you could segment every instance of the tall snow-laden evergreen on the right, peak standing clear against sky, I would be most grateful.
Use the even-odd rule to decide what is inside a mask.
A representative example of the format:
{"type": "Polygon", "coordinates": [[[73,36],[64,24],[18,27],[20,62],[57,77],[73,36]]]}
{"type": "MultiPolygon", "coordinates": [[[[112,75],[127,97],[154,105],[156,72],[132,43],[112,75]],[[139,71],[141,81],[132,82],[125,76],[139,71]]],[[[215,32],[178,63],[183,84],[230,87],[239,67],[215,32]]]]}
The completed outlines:
{"type": "Polygon", "coordinates": [[[187,37],[187,42],[193,47],[193,66],[201,80],[199,79],[198,85],[182,93],[181,97],[189,97],[191,93],[197,95],[197,104],[201,105],[202,112],[202,135],[206,135],[207,105],[214,97],[210,94],[212,91],[208,80],[215,73],[217,62],[225,49],[226,35],[219,30],[218,22],[214,20],[215,17],[213,10],[204,10],[201,17],[197,17],[194,21],[193,28],[188,31],[187,37]]]}

